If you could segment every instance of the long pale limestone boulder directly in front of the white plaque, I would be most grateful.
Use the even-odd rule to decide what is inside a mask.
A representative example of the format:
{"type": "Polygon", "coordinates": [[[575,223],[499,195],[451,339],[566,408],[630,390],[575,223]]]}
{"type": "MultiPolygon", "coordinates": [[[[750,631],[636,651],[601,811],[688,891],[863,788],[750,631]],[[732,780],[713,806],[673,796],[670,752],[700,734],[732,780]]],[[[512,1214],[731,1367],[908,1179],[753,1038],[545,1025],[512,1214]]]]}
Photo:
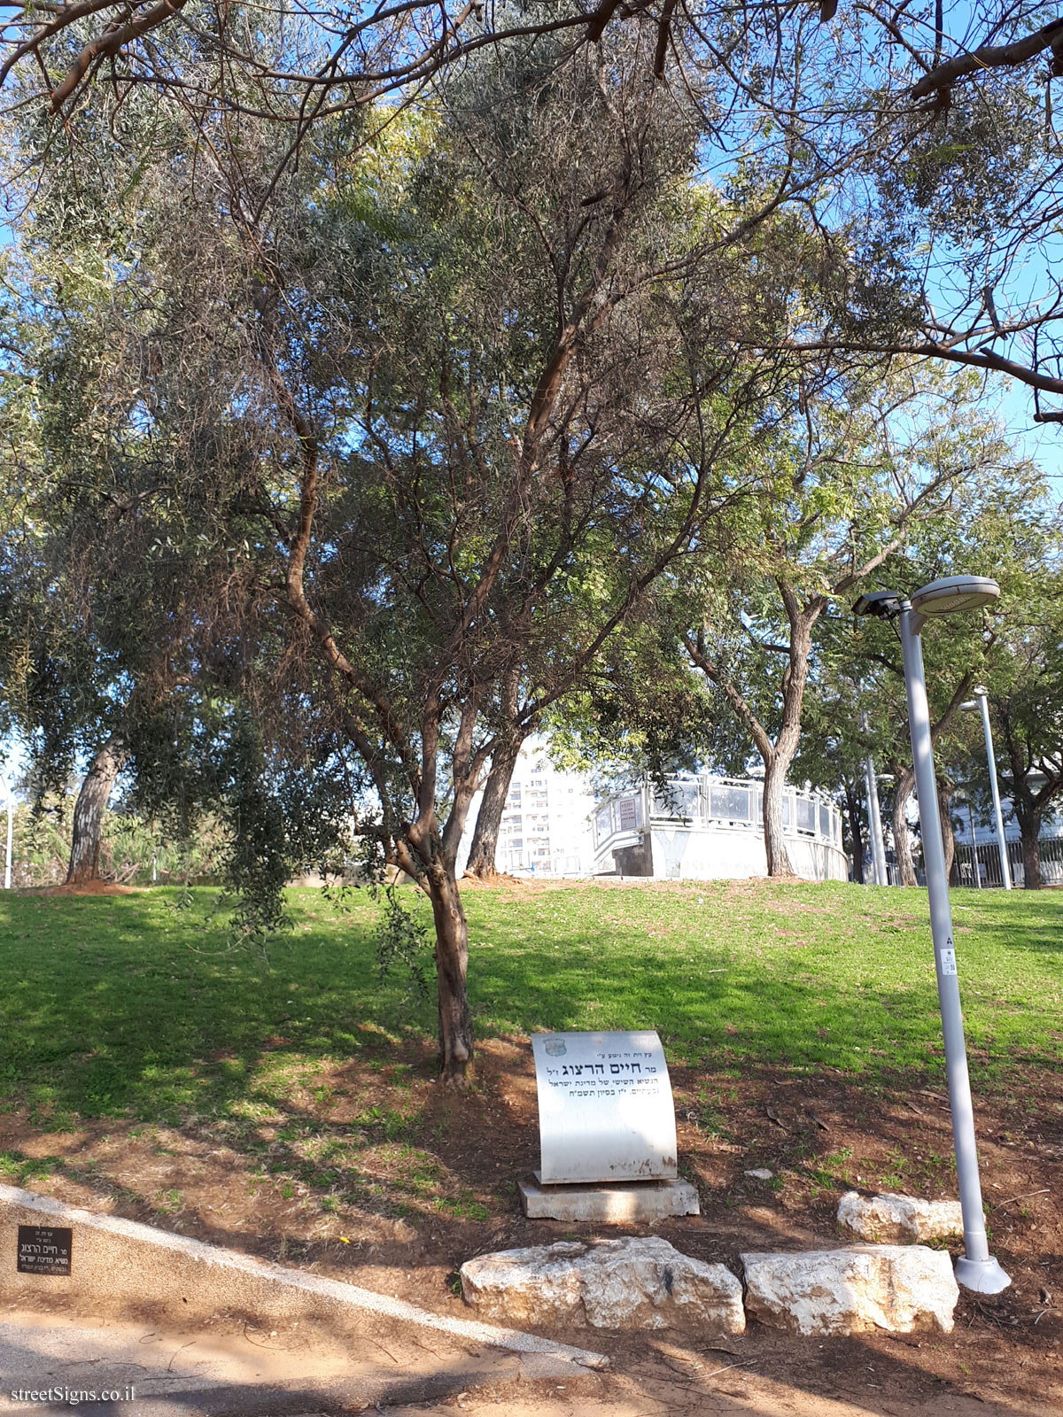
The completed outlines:
{"type": "Polygon", "coordinates": [[[746,1331],[741,1284],[668,1240],[560,1240],[468,1260],[462,1294],[480,1318],[557,1328],[746,1331]]]}

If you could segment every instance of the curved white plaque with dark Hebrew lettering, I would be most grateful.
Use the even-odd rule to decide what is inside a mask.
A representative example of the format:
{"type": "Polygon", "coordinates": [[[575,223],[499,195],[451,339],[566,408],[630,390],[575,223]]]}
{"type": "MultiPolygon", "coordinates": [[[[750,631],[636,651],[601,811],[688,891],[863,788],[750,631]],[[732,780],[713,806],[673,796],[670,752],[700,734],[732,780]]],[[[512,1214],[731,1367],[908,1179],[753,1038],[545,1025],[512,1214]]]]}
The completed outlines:
{"type": "Polygon", "coordinates": [[[543,1185],[676,1175],[672,1083],[656,1033],[534,1033],[532,1054],[543,1185]]]}

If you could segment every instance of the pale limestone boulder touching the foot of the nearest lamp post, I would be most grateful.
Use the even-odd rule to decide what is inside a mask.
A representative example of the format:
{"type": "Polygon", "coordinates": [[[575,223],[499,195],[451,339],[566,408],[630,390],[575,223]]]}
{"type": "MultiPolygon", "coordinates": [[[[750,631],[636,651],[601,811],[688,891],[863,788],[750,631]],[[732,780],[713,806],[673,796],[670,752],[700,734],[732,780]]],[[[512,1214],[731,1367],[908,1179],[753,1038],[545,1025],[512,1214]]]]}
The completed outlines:
{"type": "Polygon", "coordinates": [[[792,1333],[952,1332],[960,1289],[944,1250],[857,1244],[744,1254],[746,1311],[792,1333]]]}

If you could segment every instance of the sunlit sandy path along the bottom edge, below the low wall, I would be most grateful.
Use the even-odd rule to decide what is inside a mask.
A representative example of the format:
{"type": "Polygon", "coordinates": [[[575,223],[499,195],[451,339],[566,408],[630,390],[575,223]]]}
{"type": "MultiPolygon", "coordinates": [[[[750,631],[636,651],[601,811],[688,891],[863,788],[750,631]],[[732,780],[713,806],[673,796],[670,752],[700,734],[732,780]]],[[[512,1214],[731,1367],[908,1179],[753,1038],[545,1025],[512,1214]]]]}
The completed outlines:
{"type": "MultiPolygon", "coordinates": [[[[950,1390],[914,1369],[913,1340],[893,1352],[853,1340],[792,1346],[751,1331],[727,1346],[639,1336],[617,1343],[614,1367],[575,1380],[536,1374],[517,1355],[446,1340],[428,1348],[401,1326],[373,1350],[322,1333],[241,1326],[159,1329],[88,1325],[9,1312],[0,1321],[0,1413],[50,1417],[295,1417],[378,1411],[428,1417],[1040,1417],[1059,1406],[950,1390]],[[870,1359],[874,1362],[870,1362],[870,1359]],[[13,1400],[51,1389],[52,1403],[13,1400]],[[116,1394],[99,1400],[99,1394],[116,1394]],[[81,1394],[94,1393],[98,1400],[81,1394]],[[71,1397],[79,1397],[71,1404],[71,1397]]],[[[1008,1373],[1001,1373],[1002,1389],[1008,1373]]]]}

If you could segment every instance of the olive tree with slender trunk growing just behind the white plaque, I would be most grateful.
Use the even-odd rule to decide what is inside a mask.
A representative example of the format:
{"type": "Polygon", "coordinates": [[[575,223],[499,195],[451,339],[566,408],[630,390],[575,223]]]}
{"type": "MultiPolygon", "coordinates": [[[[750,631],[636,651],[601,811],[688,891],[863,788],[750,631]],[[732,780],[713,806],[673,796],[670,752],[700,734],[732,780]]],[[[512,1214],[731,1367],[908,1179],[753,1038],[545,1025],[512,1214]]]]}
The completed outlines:
{"type": "MultiPolygon", "coordinates": [[[[784,298],[693,181],[696,115],[642,81],[653,44],[493,50],[371,157],[320,125],[265,193],[276,132],[249,118],[238,157],[173,123],[102,179],[135,187],[137,244],[113,299],[86,296],[111,332],[94,462],[174,584],[211,588],[196,682],[224,667],[266,741],[309,716],[360,760],[364,835],[431,901],[454,1081],[485,768],[746,495],[787,387],[736,337],[784,298]]],[[[105,567],[128,531],[92,521],[99,496],[105,567]]]]}

